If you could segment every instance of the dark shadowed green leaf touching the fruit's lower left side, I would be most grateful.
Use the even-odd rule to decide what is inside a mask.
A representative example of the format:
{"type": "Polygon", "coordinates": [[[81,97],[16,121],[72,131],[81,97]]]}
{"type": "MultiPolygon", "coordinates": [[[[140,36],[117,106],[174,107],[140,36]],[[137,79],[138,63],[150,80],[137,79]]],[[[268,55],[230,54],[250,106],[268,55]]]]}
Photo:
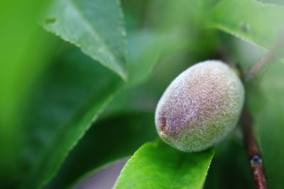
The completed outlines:
{"type": "Polygon", "coordinates": [[[157,137],[153,118],[153,113],[121,113],[99,120],[70,151],[46,188],[67,188],[105,164],[131,156],[144,142],[157,137]]]}

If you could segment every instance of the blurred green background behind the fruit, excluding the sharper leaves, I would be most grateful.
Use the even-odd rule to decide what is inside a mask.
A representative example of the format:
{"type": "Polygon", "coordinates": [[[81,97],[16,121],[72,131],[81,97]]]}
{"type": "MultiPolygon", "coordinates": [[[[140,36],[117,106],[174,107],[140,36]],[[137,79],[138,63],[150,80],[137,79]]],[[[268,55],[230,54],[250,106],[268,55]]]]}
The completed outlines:
{"type": "MultiPolygon", "coordinates": [[[[108,188],[125,158],[157,137],[155,105],[175,76],[206,59],[247,71],[266,52],[262,40],[253,45],[204,24],[218,2],[121,1],[130,78],[125,83],[80,48],[44,30],[40,21],[50,1],[1,1],[0,188],[92,188],[109,178],[108,188]],[[88,120],[93,122],[89,129],[77,127],[88,120]],[[66,142],[75,138],[73,133],[80,134],[66,142]],[[68,153],[58,156],[60,151],[68,153]]],[[[280,0],[262,2],[284,6],[280,0]]],[[[258,11],[251,13],[257,18],[253,13],[258,11]]],[[[270,27],[276,23],[263,23],[268,31],[263,43],[272,38],[270,27]]],[[[240,27],[258,34],[250,23],[240,27]]],[[[271,188],[283,187],[283,71],[283,59],[274,61],[248,92],[271,188]]],[[[204,187],[253,188],[239,128],[217,147],[204,187]]]]}

